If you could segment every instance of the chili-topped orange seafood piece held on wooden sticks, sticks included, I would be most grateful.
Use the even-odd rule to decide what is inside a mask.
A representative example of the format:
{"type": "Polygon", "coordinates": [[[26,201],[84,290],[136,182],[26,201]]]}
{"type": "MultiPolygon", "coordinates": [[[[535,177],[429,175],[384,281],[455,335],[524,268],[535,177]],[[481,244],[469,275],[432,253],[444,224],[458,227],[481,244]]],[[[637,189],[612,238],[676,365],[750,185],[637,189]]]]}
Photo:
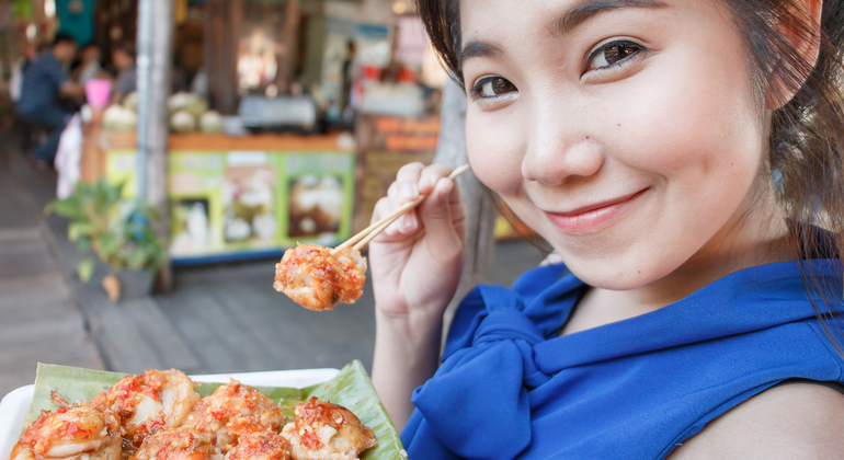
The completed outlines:
{"type": "MultiPolygon", "coordinates": [[[[468,164],[457,168],[448,179],[454,180],[468,169],[468,164]]],[[[366,280],[366,260],[360,251],[425,197],[420,195],[399,206],[333,250],[318,244],[299,244],[287,250],[282,262],[275,264],[273,287],[308,310],[331,310],[341,302],[354,303],[361,298],[366,280]]]]}

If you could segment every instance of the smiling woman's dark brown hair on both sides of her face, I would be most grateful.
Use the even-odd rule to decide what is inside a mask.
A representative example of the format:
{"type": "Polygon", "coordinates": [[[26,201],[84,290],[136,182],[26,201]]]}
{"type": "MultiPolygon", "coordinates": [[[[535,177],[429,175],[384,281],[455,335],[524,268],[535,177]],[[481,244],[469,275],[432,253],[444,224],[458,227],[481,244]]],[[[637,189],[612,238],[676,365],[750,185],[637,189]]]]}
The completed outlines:
{"type": "MultiPolygon", "coordinates": [[[[744,37],[760,94],[769,89],[790,89],[788,93],[797,90],[788,103],[773,113],[768,148],[772,181],[794,237],[795,260],[841,258],[844,255],[844,0],[822,0],[820,53],[814,66],[783,35],[783,31],[788,30],[811,41],[818,33],[797,0],[725,2],[744,37]],[[812,226],[824,228],[829,233],[819,238],[812,226]]],[[[417,5],[442,62],[463,85],[459,1],[417,0],[417,5]]],[[[805,269],[807,289],[819,294],[824,304],[822,310],[813,302],[818,317],[830,318],[840,311],[828,295],[840,297],[842,286],[821,286],[803,264],[800,266],[805,269]]]]}

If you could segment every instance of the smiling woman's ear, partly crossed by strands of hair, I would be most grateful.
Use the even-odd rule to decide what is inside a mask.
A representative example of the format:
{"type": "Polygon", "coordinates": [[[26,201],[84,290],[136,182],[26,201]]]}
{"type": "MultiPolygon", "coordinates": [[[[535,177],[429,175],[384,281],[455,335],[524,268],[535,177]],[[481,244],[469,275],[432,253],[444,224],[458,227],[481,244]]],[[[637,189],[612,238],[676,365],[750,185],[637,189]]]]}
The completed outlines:
{"type": "Polygon", "coordinates": [[[774,67],[766,97],[768,110],[777,110],[791,101],[818,64],[822,3],[823,0],[795,0],[792,8],[796,11],[780,16],[779,38],[789,46],[796,59],[780,58],[774,67]]]}

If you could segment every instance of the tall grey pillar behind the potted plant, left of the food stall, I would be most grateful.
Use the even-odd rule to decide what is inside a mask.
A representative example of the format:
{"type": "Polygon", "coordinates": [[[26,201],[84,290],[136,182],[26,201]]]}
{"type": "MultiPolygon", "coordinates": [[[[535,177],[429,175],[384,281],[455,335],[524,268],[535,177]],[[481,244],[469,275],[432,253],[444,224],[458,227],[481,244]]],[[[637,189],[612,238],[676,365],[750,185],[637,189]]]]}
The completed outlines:
{"type": "MultiPolygon", "coordinates": [[[[160,212],[156,233],[168,243],[167,146],[173,38],[173,0],[140,0],[138,3],[138,198],[160,212]]],[[[159,278],[170,289],[170,266],[159,278]]]]}

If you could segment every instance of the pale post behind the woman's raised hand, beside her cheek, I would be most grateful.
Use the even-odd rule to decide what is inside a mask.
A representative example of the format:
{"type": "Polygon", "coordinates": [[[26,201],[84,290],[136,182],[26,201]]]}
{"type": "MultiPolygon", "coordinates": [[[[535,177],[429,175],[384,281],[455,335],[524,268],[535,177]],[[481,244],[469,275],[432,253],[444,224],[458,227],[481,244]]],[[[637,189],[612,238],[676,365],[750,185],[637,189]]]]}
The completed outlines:
{"type": "MultiPolygon", "coordinates": [[[[466,152],[466,105],[467,99],[463,88],[448,79],[443,88],[442,128],[434,157],[435,163],[447,163],[456,168],[469,162],[466,152]]],[[[466,203],[468,231],[463,275],[457,292],[446,309],[444,331],[448,331],[460,300],[483,280],[494,251],[493,230],[498,216],[492,194],[475,174],[468,172],[459,176],[457,184],[466,203]]],[[[443,337],[445,340],[445,334],[443,337]]]]}

